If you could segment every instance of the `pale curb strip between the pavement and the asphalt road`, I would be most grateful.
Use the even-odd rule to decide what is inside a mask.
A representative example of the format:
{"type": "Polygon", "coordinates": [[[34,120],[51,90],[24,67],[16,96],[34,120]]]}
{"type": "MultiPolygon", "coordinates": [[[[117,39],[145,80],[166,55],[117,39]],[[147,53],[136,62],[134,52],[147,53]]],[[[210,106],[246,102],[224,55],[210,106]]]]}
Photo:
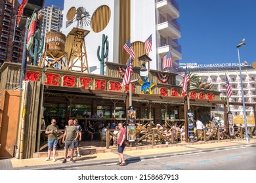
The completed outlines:
{"type": "MultiPolygon", "coordinates": [[[[178,152],[178,153],[165,153],[165,154],[157,154],[155,156],[152,155],[146,155],[146,156],[141,156],[141,157],[133,157],[133,158],[128,158],[126,159],[126,162],[133,163],[135,161],[141,161],[142,159],[155,159],[155,158],[165,158],[165,157],[170,157],[170,156],[181,156],[185,154],[196,154],[196,153],[202,153],[202,152],[213,152],[213,151],[218,151],[218,150],[225,150],[225,149],[233,149],[233,148],[244,148],[248,146],[256,146],[256,143],[253,144],[241,144],[241,145],[236,145],[236,146],[223,146],[220,148],[208,148],[204,150],[192,150],[192,151],[186,151],[186,152],[178,152]]],[[[37,168],[32,168],[30,170],[55,170],[55,169],[69,169],[73,167],[87,167],[87,166],[92,166],[92,165],[107,165],[107,164],[112,164],[112,163],[117,163],[117,159],[104,159],[104,160],[97,160],[94,162],[81,162],[81,163],[72,163],[72,164],[58,164],[58,165],[52,165],[51,167],[37,167],[37,168]]]]}

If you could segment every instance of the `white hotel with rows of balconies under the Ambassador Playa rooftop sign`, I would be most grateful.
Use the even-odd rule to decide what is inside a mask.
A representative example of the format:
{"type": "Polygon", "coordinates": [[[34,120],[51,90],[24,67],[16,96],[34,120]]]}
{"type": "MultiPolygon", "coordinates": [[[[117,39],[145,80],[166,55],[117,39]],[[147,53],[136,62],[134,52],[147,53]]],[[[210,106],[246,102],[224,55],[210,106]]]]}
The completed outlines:
{"type": "MultiPolygon", "coordinates": [[[[242,103],[242,89],[240,82],[240,69],[238,63],[215,63],[211,65],[197,63],[181,63],[184,71],[184,65],[188,65],[189,71],[193,74],[202,77],[202,81],[213,84],[219,92],[222,100],[226,100],[226,82],[225,76],[228,76],[228,81],[232,86],[232,95],[229,98],[230,103],[242,103]]],[[[242,83],[244,86],[245,103],[256,102],[256,69],[252,66],[247,66],[242,63],[242,83]]],[[[221,108],[218,108],[221,113],[221,108]]],[[[230,111],[234,116],[244,118],[244,108],[242,106],[230,105],[230,111]]],[[[254,116],[253,107],[245,107],[247,118],[254,116]]]]}

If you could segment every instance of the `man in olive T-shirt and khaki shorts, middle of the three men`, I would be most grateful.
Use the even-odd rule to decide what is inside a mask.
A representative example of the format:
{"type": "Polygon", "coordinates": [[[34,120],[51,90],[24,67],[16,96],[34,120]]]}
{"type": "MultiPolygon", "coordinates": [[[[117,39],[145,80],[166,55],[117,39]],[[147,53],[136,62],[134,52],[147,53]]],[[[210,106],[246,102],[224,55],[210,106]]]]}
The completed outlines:
{"type": "Polygon", "coordinates": [[[78,135],[79,133],[77,131],[77,127],[73,125],[73,120],[72,119],[68,120],[68,125],[65,127],[65,133],[62,139],[62,142],[65,143],[64,160],[62,161],[62,163],[67,162],[69,147],[71,150],[70,161],[75,163],[75,160],[73,159],[73,155],[74,155],[75,141],[78,138],[78,135]]]}

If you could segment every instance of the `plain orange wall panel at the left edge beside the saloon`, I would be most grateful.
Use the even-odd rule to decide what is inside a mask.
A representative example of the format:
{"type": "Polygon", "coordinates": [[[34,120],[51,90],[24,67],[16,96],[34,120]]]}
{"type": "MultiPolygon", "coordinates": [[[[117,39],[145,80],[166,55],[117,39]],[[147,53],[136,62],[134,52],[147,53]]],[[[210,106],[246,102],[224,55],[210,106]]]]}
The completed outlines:
{"type": "Polygon", "coordinates": [[[0,158],[11,158],[16,150],[21,92],[1,91],[0,158]]]}

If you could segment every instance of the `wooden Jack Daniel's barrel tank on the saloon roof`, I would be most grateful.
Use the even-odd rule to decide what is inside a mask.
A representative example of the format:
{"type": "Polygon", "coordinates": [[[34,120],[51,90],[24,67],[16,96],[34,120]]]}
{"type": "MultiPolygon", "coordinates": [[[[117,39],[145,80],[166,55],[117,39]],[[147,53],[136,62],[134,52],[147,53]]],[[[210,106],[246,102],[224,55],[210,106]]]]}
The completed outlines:
{"type": "Polygon", "coordinates": [[[48,52],[61,54],[65,52],[66,36],[57,31],[49,31],[45,35],[46,49],[48,52]]]}

